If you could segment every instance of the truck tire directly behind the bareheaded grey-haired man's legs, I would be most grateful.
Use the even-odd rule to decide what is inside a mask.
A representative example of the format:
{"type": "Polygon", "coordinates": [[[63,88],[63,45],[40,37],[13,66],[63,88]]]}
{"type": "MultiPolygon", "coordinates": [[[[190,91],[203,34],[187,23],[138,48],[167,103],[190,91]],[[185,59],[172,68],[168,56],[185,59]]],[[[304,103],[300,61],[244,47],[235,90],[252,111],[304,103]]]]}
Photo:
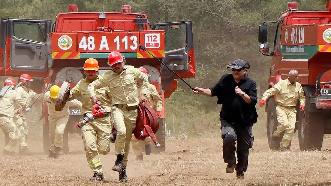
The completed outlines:
{"type": "MultiPolygon", "coordinates": [[[[276,114],[276,104],[273,101],[273,97],[270,97],[268,100],[267,122],[266,122],[268,144],[270,150],[279,150],[280,142],[284,135],[284,132],[280,133],[278,140],[274,143],[275,145],[272,145],[271,137],[273,132],[277,129],[277,126],[278,126],[278,122],[277,122],[277,114],[276,114]]],[[[290,150],[291,143],[292,140],[290,141],[290,144],[286,147],[286,149],[290,150]]]]}

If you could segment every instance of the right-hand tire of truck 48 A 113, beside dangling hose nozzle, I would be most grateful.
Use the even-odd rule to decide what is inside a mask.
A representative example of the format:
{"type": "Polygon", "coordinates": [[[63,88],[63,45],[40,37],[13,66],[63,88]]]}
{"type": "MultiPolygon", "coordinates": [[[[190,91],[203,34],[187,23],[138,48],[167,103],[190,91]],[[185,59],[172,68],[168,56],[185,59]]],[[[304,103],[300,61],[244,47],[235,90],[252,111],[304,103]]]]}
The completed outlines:
{"type": "Polygon", "coordinates": [[[160,143],[160,147],[156,148],[154,142],[151,140],[152,145],[152,153],[161,153],[166,150],[166,119],[159,119],[159,130],[156,132],[155,136],[158,142],[160,143]]]}

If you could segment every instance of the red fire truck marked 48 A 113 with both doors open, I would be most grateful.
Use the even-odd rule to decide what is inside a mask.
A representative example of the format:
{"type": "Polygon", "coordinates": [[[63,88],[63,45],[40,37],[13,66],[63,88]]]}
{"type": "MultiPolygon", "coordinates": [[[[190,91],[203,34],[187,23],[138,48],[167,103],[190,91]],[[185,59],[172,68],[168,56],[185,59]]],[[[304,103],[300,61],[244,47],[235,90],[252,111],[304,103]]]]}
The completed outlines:
{"type": "MultiPolygon", "coordinates": [[[[195,77],[191,21],[152,25],[146,14],[131,13],[128,5],[122,5],[120,12],[79,12],[77,5],[69,5],[68,12],[59,13],[54,23],[51,20],[1,19],[0,75],[30,74],[42,82],[35,84],[38,91],[49,83],[61,86],[64,81],[72,88],[85,78],[82,67],[89,57],[98,60],[99,74],[110,70],[107,59],[112,51],[125,56],[127,65],[147,69],[150,83],[156,86],[163,99],[160,125],[165,125],[164,100],[177,89],[178,77],[157,58],[182,78],[195,77]]],[[[70,126],[79,122],[79,113],[79,109],[71,108],[70,126]]],[[[46,120],[44,137],[48,132],[46,120]]],[[[72,127],[68,131],[79,133],[72,127]]],[[[159,131],[163,133],[160,138],[165,138],[165,127],[161,126],[159,131]]],[[[165,142],[158,141],[164,150],[165,142]]],[[[44,141],[44,144],[46,151],[48,143],[44,141]]]]}

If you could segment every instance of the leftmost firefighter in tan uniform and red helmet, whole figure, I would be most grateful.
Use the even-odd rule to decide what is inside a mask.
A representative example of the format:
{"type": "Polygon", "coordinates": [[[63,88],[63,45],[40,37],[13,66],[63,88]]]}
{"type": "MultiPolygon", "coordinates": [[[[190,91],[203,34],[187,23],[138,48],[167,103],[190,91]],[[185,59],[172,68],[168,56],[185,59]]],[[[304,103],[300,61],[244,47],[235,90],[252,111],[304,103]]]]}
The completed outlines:
{"type": "Polygon", "coordinates": [[[22,110],[25,109],[26,101],[13,88],[16,86],[15,81],[8,78],[3,88],[0,91],[0,127],[2,131],[9,136],[8,143],[5,146],[3,155],[15,155],[15,147],[18,143],[18,138],[21,136],[20,130],[13,121],[14,104],[17,103],[22,110]]]}

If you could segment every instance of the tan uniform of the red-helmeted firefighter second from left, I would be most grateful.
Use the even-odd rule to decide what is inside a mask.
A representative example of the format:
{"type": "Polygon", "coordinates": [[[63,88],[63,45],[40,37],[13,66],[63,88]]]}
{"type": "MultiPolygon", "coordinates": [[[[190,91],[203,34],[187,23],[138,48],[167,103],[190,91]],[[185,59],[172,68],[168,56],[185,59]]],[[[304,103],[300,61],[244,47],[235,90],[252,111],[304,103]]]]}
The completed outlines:
{"type": "MultiPolygon", "coordinates": [[[[30,104],[30,102],[33,98],[35,98],[39,95],[39,94],[33,92],[32,89],[27,89],[23,85],[20,87],[17,87],[15,89],[15,91],[17,93],[19,93],[22,98],[25,99],[27,105],[30,104]]],[[[20,106],[16,104],[15,110],[19,109],[19,108],[20,108],[20,106]]],[[[27,147],[26,136],[27,136],[28,130],[27,130],[27,124],[26,124],[26,120],[25,120],[24,116],[21,116],[20,113],[15,114],[13,120],[14,120],[14,123],[16,124],[17,128],[21,132],[21,137],[18,139],[20,149],[27,147]]]]}

